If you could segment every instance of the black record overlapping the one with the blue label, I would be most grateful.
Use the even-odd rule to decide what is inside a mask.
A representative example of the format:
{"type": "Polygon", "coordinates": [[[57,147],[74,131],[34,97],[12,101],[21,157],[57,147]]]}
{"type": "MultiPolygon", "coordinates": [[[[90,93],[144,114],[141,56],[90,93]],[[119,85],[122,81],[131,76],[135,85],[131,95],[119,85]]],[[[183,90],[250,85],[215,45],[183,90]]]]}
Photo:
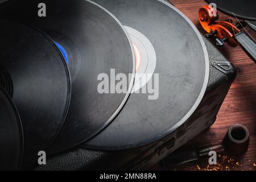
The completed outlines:
{"type": "Polygon", "coordinates": [[[67,115],[71,81],[54,42],[36,28],[0,20],[2,86],[19,111],[24,132],[23,167],[47,151],[67,115]]]}

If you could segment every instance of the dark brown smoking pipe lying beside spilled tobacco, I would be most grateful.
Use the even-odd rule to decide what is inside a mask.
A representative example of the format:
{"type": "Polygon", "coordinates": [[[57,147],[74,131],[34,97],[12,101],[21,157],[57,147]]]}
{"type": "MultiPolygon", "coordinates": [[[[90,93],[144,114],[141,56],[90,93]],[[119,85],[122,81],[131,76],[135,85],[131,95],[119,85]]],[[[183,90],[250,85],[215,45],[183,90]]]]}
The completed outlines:
{"type": "Polygon", "coordinates": [[[160,165],[163,168],[172,168],[180,164],[209,157],[210,151],[229,156],[242,156],[249,147],[249,130],[243,125],[233,125],[229,128],[224,139],[215,146],[206,146],[192,150],[178,150],[164,158],[160,165]]]}

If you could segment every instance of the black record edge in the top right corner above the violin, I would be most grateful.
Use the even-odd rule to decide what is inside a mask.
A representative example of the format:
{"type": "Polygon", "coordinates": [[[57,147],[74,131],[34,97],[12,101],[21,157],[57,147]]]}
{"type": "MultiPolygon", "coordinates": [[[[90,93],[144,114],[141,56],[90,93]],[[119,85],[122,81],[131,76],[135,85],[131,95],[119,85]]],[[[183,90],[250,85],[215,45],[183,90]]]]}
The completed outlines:
{"type": "Polygon", "coordinates": [[[217,9],[237,18],[256,20],[255,0],[206,0],[208,3],[215,3],[217,9]]]}

